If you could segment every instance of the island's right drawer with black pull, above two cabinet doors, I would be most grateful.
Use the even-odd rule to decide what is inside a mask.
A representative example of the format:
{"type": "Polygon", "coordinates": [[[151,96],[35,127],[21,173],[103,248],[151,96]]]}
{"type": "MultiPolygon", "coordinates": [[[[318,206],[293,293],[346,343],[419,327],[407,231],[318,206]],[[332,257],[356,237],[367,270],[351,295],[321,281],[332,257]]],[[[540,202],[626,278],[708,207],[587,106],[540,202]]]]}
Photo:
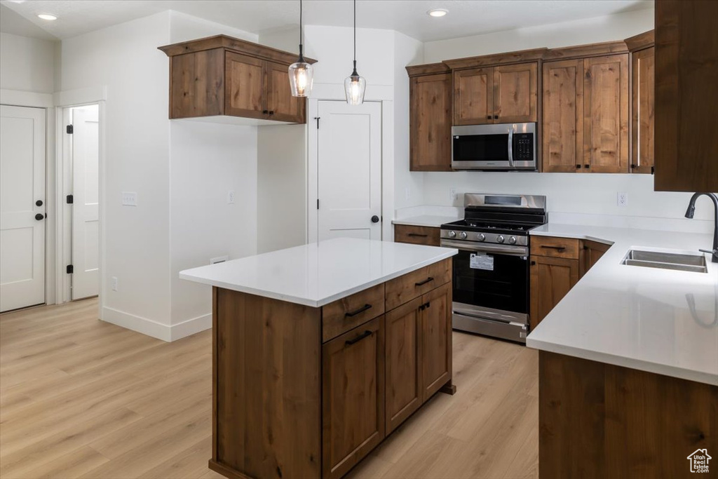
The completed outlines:
{"type": "Polygon", "coordinates": [[[452,260],[444,259],[386,282],[386,311],[451,281],[452,260]]]}

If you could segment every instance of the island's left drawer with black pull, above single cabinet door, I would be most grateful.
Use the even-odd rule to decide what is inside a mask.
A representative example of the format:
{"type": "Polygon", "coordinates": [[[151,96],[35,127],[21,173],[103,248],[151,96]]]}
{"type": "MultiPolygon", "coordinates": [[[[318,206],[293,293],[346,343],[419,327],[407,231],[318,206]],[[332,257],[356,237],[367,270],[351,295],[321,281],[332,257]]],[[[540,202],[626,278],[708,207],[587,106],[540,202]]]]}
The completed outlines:
{"type": "Polygon", "coordinates": [[[337,299],[322,307],[322,343],[383,313],[383,284],[337,299]]]}

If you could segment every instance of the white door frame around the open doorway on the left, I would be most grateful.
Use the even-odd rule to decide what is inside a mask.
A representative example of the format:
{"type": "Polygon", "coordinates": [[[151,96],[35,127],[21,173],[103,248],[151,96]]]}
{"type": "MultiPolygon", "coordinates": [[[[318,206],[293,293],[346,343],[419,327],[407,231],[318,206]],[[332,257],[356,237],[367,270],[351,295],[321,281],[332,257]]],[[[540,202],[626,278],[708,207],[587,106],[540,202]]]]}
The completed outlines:
{"type": "Polygon", "coordinates": [[[107,88],[82,88],[80,90],[70,90],[66,92],[55,93],[56,107],[56,136],[57,152],[55,158],[55,289],[57,304],[70,301],[70,277],[67,275],[65,268],[70,264],[70,256],[68,256],[69,245],[67,238],[70,237],[72,224],[69,222],[71,218],[71,207],[65,202],[65,195],[72,189],[72,177],[66,177],[67,167],[72,164],[72,156],[70,155],[70,145],[67,142],[67,134],[65,134],[65,115],[70,108],[75,106],[98,105],[98,118],[100,120],[99,128],[99,157],[98,157],[98,197],[100,200],[98,220],[100,228],[98,228],[98,254],[99,254],[99,301],[98,301],[98,317],[102,317],[103,298],[105,296],[105,185],[106,185],[106,146],[105,146],[105,124],[106,124],[106,106],[107,88]],[[69,162],[69,163],[68,163],[69,162]]]}

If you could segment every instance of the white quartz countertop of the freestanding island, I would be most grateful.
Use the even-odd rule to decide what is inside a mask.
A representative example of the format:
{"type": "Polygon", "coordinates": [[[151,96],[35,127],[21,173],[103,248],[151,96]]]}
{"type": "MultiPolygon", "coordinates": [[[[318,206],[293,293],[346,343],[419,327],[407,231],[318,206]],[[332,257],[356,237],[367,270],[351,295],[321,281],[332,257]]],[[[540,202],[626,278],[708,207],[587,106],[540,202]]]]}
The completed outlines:
{"type": "Polygon", "coordinates": [[[320,307],[457,254],[453,248],[334,238],[180,271],[180,278],[320,307]]]}

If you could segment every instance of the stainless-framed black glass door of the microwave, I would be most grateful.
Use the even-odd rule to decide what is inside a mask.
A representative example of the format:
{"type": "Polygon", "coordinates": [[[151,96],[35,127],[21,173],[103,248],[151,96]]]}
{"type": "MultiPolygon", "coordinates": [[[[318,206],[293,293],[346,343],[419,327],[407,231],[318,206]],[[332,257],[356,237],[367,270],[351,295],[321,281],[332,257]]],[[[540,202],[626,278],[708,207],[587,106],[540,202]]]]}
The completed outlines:
{"type": "Polygon", "coordinates": [[[513,169],[513,124],[452,127],[453,169],[513,169]]]}

